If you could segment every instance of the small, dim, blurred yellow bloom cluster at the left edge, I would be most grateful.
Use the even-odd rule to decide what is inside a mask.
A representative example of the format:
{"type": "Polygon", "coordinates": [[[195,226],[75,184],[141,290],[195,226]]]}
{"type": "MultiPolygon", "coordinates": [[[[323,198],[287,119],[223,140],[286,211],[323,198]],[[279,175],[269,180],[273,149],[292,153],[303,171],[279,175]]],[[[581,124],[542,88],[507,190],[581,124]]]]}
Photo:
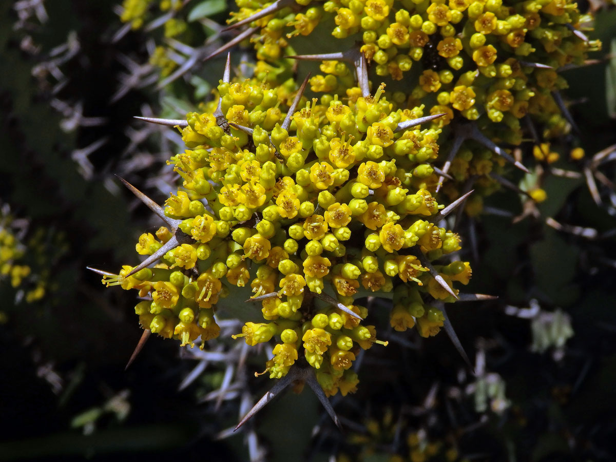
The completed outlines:
{"type": "Polygon", "coordinates": [[[23,299],[26,302],[35,302],[45,295],[49,276],[49,270],[33,274],[29,264],[33,258],[34,262],[41,263],[39,256],[43,256],[42,236],[37,233],[26,246],[17,237],[11,226],[12,221],[10,214],[0,210],[0,282],[4,279],[10,280],[13,288],[23,289],[23,299]]]}

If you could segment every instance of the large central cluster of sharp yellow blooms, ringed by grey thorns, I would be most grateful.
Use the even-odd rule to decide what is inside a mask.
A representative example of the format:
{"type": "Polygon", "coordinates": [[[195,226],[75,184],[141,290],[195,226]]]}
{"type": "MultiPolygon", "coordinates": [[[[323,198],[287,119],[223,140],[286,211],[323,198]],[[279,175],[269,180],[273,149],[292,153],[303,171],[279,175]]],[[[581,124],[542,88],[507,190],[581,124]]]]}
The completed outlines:
{"type": "Polygon", "coordinates": [[[455,301],[453,282],[471,277],[468,262],[431,264],[460,249],[429,192],[440,129],[405,124],[423,107],[393,110],[383,86],[347,103],[300,93],[286,113],[284,87],[221,81],[218,92],[215,111],[187,115],[188,150],[169,161],[184,179],[164,208],[177,231],[137,243],[160,263],[103,282],[151,293],[136,306],[142,326],[182,345],[201,336],[201,347],[219,334],[216,304],[249,286],[261,322],[236,337],[275,341],[270,377],[305,358],[326,394],[346,395],[359,349],[383,343],[355,299],[393,298],[395,330],[427,337],[445,320],[430,301],[455,301]]]}

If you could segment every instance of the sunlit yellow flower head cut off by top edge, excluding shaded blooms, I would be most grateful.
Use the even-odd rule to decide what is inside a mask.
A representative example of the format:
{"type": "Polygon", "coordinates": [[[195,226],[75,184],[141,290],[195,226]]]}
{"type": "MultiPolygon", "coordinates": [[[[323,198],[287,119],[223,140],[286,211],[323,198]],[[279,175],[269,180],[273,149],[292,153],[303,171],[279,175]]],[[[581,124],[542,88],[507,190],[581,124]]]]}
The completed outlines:
{"type": "MultiPolygon", "coordinates": [[[[278,60],[293,45],[288,39],[327,33],[330,29],[321,31],[318,24],[331,28],[333,23],[331,35],[362,43],[360,51],[376,75],[401,80],[411,72],[410,97],[432,113],[447,113],[444,124],[455,110],[468,120],[485,114],[519,132],[517,119],[528,112],[545,117],[549,105],[555,108],[551,114],[558,113],[550,91],[566,82],[556,69],[582,64],[586,51],[597,45],[575,34],[590,17],[568,0],[296,2],[306,9],[294,13],[287,7],[259,17],[267,3],[237,0],[240,10],[231,21],[257,17],[251,25],[261,28],[253,39],[258,59],[278,60]]],[[[314,91],[344,91],[339,81],[348,72],[344,63],[325,61],[321,70],[324,75],[312,78],[314,91]]]]}

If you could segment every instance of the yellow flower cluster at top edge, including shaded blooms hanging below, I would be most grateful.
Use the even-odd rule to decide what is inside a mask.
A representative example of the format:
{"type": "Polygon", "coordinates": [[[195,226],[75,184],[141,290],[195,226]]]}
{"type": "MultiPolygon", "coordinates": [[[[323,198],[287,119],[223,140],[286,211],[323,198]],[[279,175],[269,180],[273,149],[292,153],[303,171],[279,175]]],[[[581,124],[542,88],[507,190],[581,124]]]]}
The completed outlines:
{"type": "MultiPolygon", "coordinates": [[[[592,17],[568,0],[296,0],[292,12],[285,7],[290,3],[238,2],[240,12],[229,22],[259,28],[252,39],[257,58],[276,65],[285,53],[295,55],[301,36],[331,32],[341,39],[341,49],[352,40],[359,43],[355,55],[362,54],[370,68],[363,78],[387,77],[394,88],[402,81],[393,102],[445,114],[439,126],[451,124],[445,135],[453,134],[453,142],[446,145],[443,171],[451,168],[455,179],[445,193],[457,197],[469,179],[478,178],[475,202],[467,207],[471,215],[482,210],[482,196],[505,184],[490,176],[500,174],[503,156],[514,163],[495,143],[519,145],[525,137],[537,141],[539,135],[549,139],[569,131],[572,119],[558,93],[567,82],[557,72],[582,65],[586,53],[601,46],[582,32],[592,17]],[[469,136],[469,123],[481,128],[479,143],[469,136]],[[461,146],[464,152],[458,152],[461,146]],[[471,158],[476,165],[469,164],[471,158]]],[[[360,69],[349,50],[294,57],[321,62],[322,73],[310,79],[312,91],[346,92],[350,98],[362,93],[351,63],[359,81],[360,69]]],[[[516,165],[527,171],[521,162],[516,165]]]]}

